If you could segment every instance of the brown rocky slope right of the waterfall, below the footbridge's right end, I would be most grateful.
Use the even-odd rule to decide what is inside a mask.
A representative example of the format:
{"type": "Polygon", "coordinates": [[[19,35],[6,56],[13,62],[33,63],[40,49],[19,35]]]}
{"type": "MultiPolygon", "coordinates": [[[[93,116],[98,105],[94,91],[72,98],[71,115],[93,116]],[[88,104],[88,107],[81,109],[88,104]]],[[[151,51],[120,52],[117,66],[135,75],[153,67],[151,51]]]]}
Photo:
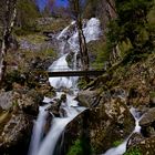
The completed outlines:
{"type": "Polygon", "coordinates": [[[104,153],[113,147],[115,142],[125,140],[134,127],[134,120],[128,110],[135,107],[140,115],[143,115],[140,121],[142,133],[134,134],[128,140],[125,154],[154,155],[154,64],[155,54],[152,53],[135,63],[115,65],[79,92],[80,104],[89,110],[68,125],[68,151],[83,147],[76,146],[76,141],[83,141],[83,135],[86,136],[92,154],[104,153]]]}

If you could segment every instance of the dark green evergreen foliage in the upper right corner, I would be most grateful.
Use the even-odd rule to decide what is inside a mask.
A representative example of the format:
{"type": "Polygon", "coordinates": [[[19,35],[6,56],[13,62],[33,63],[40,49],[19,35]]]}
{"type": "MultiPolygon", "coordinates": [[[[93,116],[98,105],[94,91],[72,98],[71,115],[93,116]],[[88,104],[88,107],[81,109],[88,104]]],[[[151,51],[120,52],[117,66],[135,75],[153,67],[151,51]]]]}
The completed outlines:
{"type": "MultiPolygon", "coordinates": [[[[153,50],[153,28],[149,24],[148,13],[153,8],[153,0],[116,0],[117,18],[108,24],[107,49],[112,51],[117,44],[130,44],[124,53],[144,53],[153,50]],[[132,52],[131,52],[132,51],[132,52]]],[[[122,50],[122,49],[121,49],[122,50]]]]}

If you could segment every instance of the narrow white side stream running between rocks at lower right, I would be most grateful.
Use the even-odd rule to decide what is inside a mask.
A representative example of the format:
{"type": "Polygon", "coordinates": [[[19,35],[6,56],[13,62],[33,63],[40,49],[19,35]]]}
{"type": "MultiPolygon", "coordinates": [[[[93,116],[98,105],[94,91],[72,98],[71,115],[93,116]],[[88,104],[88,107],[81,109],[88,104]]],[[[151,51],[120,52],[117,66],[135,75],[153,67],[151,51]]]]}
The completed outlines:
{"type": "MultiPolygon", "coordinates": [[[[132,134],[133,133],[141,133],[141,126],[138,125],[138,122],[141,120],[140,113],[136,112],[136,108],[134,108],[134,107],[132,107],[130,110],[130,112],[135,118],[135,128],[132,132],[132,134]]],[[[126,152],[127,141],[132,136],[132,134],[121,145],[118,145],[117,147],[110,148],[103,155],[123,155],[126,152]]]]}

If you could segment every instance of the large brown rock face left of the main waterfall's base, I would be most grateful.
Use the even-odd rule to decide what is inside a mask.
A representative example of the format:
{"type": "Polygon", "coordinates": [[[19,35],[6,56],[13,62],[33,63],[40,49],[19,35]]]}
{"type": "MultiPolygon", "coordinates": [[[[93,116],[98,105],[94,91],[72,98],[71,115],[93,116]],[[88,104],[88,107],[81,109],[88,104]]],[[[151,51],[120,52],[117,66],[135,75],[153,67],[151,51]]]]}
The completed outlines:
{"type": "Polygon", "coordinates": [[[42,97],[23,87],[2,92],[0,96],[0,154],[24,155],[42,97]]]}

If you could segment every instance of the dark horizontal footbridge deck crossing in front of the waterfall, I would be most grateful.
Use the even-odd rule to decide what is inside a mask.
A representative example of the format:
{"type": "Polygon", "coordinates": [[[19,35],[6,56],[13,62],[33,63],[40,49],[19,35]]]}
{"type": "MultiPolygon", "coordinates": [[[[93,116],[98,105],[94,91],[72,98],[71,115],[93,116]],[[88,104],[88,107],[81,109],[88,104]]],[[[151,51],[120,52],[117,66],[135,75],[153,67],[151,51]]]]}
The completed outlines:
{"type": "Polygon", "coordinates": [[[102,75],[105,71],[59,71],[48,72],[49,76],[97,76],[102,75]]]}

